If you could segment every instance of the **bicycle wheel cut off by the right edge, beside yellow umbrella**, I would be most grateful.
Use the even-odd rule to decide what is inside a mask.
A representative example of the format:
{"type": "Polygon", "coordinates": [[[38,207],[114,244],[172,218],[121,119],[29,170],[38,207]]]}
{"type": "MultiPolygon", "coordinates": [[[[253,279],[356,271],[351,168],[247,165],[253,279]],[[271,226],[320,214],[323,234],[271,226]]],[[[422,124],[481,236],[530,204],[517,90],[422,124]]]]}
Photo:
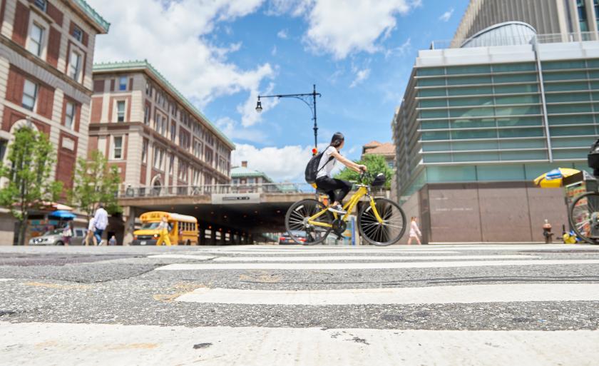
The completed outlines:
{"type": "Polygon", "coordinates": [[[585,242],[599,244],[599,193],[578,196],[570,206],[570,225],[585,242]]]}

